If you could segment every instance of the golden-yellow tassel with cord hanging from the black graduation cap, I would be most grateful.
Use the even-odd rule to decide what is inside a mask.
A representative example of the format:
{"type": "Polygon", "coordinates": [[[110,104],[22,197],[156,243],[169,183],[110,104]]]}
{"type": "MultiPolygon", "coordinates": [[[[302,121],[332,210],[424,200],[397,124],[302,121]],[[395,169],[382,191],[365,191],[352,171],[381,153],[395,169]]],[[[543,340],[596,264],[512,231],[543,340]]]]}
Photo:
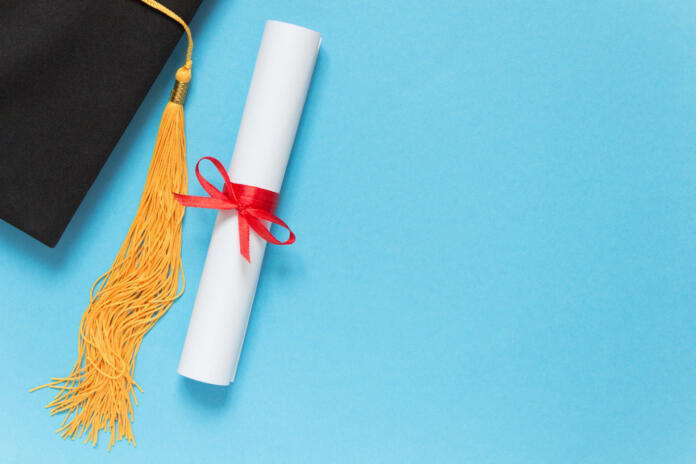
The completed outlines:
{"type": "Polygon", "coordinates": [[[58,390],[47,408],[52,415],[66,413],[57,430],[63,438],[86,435],[85,443],[96,446],[104,430],[111,435],[109,449],[123,438],[135,445],[134,387],[142,391],[133,379],[135,357],[145,334],[183,292],[184,207],[172,193],[187,190],[183,103],[191,80],[193,42],[188,26],[175,13],[155,1],[141,1],[183,25],[189,38],[186,65],[176,73],[162,115],[135,219],[111,269],[92,286],[72,373],[32,390],[58,390]]]}

